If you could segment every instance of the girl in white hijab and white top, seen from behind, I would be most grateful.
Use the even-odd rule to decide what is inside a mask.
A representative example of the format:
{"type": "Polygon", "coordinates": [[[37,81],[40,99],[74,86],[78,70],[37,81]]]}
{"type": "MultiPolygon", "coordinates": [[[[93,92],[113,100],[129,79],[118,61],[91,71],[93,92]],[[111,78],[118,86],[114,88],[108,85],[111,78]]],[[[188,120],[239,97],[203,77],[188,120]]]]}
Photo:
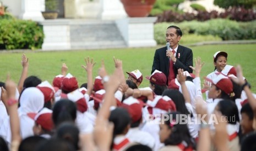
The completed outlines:
{"type": "MultiPolygon", "coordinates": [[[[35,121],[28,117],[28,113],[37,113],[43,108],[44,96],[42,92],[35,88],[26,88],[20,96],[20,107],[18,109],[20,118],[20,133],[22,139],[33,136],[33,126],[35,121]]],[[[8,143],[11,141],[10,122],[9,118],[4,120],[0,127],[0,136],[8,143]]]]}

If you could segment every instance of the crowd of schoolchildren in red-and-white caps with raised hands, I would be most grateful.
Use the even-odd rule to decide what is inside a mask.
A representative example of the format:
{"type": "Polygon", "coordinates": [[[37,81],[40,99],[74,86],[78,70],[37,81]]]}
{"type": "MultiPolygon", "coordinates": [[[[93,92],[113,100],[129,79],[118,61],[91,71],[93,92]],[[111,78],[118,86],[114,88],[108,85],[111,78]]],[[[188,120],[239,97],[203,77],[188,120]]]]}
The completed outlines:
{"type": "Polygon", "coordinates": [[[224,51],[214,54],[203,88],[199,57],[194,74],[178,69],[171,89],[164,73],[124,74],[115,58],[115,71],[102,61],[96,78],[86,58],[80,88],[65,63],[51,84],[28,77],[25,55],[21,62],[19,83],[10,75],[0,83],[0,150],[256,150],[256,95],[224,51]]]}

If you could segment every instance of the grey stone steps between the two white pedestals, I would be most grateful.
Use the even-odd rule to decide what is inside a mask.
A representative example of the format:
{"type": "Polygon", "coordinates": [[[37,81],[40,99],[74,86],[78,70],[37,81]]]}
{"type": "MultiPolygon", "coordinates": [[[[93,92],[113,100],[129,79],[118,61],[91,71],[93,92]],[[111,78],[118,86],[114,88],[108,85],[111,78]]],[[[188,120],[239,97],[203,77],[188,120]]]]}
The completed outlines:
{"type": "Polygon", "coordinates": [[[72,49],[127,47],[115,22],[72,24],[70,25],[70,43],[72,49]]]}

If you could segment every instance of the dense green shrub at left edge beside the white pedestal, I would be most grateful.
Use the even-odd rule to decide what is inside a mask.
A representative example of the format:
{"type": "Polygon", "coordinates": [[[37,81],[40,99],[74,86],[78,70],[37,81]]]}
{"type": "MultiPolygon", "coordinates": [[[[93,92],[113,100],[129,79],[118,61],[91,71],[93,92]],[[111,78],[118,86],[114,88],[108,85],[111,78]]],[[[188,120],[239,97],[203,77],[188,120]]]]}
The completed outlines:
{"type": "Polygon", "coordinates": [[[39,49],[43,43],[42,26],[28,20],[0,20],[0,49],[39,49]]]}

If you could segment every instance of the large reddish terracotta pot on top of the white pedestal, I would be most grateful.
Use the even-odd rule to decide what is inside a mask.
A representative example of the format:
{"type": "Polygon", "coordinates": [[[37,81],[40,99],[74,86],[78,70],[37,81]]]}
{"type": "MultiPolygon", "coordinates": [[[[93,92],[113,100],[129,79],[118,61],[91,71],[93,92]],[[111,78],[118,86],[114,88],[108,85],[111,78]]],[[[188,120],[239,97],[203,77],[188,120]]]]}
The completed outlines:
{"type": "Polygon", "coordinates": [[[129,17],[146,17],[156,0],[121,0],[129,17]]]}

